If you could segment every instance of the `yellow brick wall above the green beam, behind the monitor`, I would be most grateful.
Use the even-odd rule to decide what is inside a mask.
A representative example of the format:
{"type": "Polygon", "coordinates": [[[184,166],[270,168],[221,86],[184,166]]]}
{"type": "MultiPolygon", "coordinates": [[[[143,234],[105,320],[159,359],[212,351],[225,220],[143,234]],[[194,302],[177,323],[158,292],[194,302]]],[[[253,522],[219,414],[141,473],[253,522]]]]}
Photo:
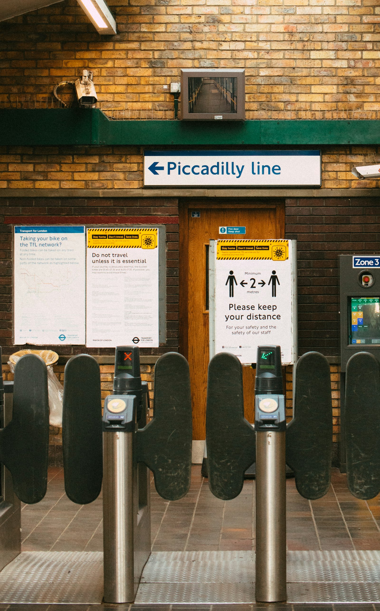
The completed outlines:
{"type": "MultiPolygon", "coordinates": [[[[83,68],[103,108],[173,107],[180,68],[246,70],[246,109],[378,109],[378,0],[108,0],[100,37],[76,0],[0,24],[0,94],[51,94],[83,68]]],[[[69,170],[70,171],[70,170],[69,170]]]]}

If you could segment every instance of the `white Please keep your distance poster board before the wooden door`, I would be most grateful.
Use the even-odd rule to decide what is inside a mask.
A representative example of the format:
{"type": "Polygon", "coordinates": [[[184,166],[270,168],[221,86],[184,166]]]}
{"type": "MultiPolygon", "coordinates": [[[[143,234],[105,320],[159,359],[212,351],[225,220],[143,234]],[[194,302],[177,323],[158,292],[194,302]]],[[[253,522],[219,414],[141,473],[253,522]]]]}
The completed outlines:
{"type": "Polygon", "coordinates": [[[281,346],[282,364],[296,360],[296,243],[210,242],[210,358],[235,354],[256,362],[257,346],[281,346]]]}

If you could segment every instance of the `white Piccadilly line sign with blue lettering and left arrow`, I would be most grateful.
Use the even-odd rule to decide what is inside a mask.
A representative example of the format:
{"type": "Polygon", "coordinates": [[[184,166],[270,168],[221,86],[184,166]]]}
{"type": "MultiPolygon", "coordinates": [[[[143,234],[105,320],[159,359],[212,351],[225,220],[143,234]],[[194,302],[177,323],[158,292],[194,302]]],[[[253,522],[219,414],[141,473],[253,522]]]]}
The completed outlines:
{"type": "Polygon", "coordinates": [[[144,186],[321,186],[320,150],[144,151],[144,186]]]}

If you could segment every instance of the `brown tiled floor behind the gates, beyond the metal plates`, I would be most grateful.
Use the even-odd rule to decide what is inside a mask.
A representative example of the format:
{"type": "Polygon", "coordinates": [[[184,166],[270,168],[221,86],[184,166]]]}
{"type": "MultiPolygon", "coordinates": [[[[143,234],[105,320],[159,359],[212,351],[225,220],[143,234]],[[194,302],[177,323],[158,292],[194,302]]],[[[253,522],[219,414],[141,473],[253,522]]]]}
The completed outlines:
{"type": "MultiPolygon", "coordinates": [[[[254,495],[254,480],[246,480],[236,499],[216,499],[200,466],[192,467],[189,493],[175,502],[161,499],[152,481],[152,550],[254,549],[254,495]]],[[[21,516],[23,551],[103,549],[101,496],[90,505],[75,505],[65,496],[62,469],[49,470],[45,499],[25,505],[21,516]]],[[[288,479],[287,543],[290,550],[380,549],[379,497],[355,499],[337,469],[329,492],[316,501],[302,499],[288,479]]]]}

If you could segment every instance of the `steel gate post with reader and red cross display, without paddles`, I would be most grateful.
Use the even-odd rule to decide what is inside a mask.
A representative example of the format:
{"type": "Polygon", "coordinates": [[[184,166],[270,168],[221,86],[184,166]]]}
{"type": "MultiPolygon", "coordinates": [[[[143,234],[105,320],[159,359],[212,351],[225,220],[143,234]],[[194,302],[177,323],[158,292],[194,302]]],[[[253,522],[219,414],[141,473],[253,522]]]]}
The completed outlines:
{"type": "Polygon", "coordinates": [[[150,555],[150,481],[137,463],[136,432],[148,421],[139,348],[117,346],[114,395],[103,411],[104,602],[133,602],[150,555]]]}

